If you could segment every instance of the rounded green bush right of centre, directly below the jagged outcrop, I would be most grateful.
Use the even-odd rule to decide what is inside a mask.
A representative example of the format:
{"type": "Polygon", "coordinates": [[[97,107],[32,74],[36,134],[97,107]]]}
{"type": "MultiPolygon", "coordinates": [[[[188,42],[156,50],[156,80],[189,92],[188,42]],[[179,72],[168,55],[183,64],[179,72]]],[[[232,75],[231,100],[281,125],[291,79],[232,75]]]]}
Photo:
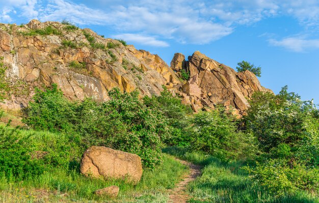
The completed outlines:
{"type": "Polygon", "coordinates": [[[195,114],[191,126],[189,134],[193,150],[203,151],[222,160],[249,157],[256,150],[252,134],[236,132],[234,118],[222,107],[195,114]]]}

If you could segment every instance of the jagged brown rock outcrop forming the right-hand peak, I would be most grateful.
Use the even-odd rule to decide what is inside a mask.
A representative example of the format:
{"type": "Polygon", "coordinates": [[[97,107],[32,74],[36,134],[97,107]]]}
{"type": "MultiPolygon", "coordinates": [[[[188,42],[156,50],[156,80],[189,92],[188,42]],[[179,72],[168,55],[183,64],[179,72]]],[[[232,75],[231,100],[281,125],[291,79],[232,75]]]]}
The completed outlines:
{"type": "MultiPolygon", "coordinates": [[[[179,66],[184,61],[180,54],[175,54],[171,67],[179,66]]],[[[189,56],[185,62],[190,79],[182,85],[183,102],[192,105],[195,111],[204,106],[214,108],[217,104],[234,107],[235,114],[243,114],[248,109],[248,99],[254,92],[272,92],[260,85],[256,76],[250,72],[237,73],[232,68],[209,59],[199,51],[189,56]]],[[[178,70],[178,69],[175,69],[178,70]]]]}

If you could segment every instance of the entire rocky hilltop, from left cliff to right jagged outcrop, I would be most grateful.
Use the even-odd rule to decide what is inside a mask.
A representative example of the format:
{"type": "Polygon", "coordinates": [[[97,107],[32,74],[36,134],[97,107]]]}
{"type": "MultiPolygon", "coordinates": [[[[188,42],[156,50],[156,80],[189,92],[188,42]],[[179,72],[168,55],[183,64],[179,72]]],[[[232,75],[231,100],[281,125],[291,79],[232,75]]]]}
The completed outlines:
{"type": "Polygon", "coordinates": [[[108,100],[107,92],[114,87],[151,96],[166,86],[194,111],[224,104],[233,106],[236,114],[245,113],[255,91],[270,91],[253,73],[237,73],[198,51],[188,61],[176,53],[169,67],[158,55],[70,23],[0,24],[0,59],[7,67],[6,79],[17,89],[2,104],[10,110],[26,106],[35,87],[52,83],[69,99],[101,101],[108,100]],[[181,79],[182,70],[189,73],[188,81],[181,79]]]}

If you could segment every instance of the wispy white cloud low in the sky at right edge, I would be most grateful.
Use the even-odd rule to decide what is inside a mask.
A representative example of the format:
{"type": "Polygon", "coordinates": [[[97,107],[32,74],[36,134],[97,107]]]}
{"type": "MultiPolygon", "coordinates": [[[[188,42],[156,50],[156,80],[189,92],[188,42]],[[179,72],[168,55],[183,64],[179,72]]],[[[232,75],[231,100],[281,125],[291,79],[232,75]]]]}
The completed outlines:
{"type": "Polygon", "coordinates": [[[319,39],[305,39],[304,37],[287,37],[282,40],[270,39],[269,43],[295,52],[319,48],[319,39]]]}

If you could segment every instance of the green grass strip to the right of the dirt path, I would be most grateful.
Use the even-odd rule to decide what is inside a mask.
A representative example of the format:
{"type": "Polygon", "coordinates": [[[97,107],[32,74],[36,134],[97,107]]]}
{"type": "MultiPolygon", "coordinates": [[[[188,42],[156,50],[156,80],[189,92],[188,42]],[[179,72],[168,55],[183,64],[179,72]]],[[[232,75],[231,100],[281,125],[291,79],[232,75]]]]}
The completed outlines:
{"type": "Polygon", "coordinates": [[[241,167],[245,162],[221,162],[211,156],[201,153],[188,152],[185,148],[170,147],[164,152],[177,156],[194,164],[201,165],[202,175],[188,186],[188,193],[192,197],[190,203],[318,203],[319,196],[306,192],[274,196],[265,188],[258,186],[249,179],[241,167]]]}

